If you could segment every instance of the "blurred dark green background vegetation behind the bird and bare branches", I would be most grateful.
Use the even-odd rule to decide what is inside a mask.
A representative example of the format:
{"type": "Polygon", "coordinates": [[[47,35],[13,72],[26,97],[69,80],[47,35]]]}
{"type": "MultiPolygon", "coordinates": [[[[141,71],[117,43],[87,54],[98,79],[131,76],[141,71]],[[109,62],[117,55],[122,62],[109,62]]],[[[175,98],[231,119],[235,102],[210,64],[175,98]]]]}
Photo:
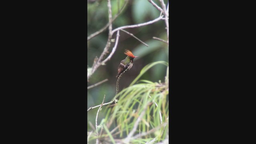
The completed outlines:
{"type": "MultiPolygon", "coordinates": [[[[168,0],[164,0],[166,6],[168,0]]],[[[124,0],[120,0],[120,8],[126,3],[124,0]]],[[[158,6],[160,3],[155,1],[158,6]]],[[[118,0],[111,0],[112,5],[112,17],[118,12],[118,0]]],[[[93,34],[94,32],[100,30],[108,23],[108,7],[107,0],[90,0],[87,6],[87,36],[93,34]]],[[[113,22],[113,30],[120,26],[140,24],[143,22],[148,22],[154,20],[160,16],[160,12],[156,10],[148,0],[129,0],[128,4],[118,16],[118,18],[113,22]]],[[[139,56],[134,58],[133,67],[127,71],[119,82],[119,92],[128,87],[129,84],[138,76],[140,70],[149,63],[156,61],[166,61],[169,59],[169,49],[168,45],[164,42],[152,39],[152,37],[158,37],[163,40],[167,39],[166,29],[164,20],[155,22],[154,24],[138,27],[138,28],[128,28],[126,31],[134,34],[137,38],[148,44],[148,47],[136,40],[129,34],[120,31],[120,38],[116,52],[112,58],[106,62],[105,66],[100,66],[94,74],[89,79],[87,83],[88,86],[100,82],[104,79],[108,79],[107,82],[91,88],[87,91],[87,108],[91,106],[96,106],[101,104],[104,94],[106,94],[105,102],[109,102],[114,98],[116,92],[116,75],[117,68],[120,61],[126,58],[124,55],[124,49],[129,49],[132,51],[134,56],[139,56]]],[[[116,32],[113,34],[112,38],[116,38],[116,32]]],[[[98,36],[87,41],[87,67],[91,68],[94,58],[100,56],[103,52],[104,47],[108,39],[108,28],[98,36]]],[[[109,52],[112,51],[114,42],[111,43],[109,52]]],[[[110,54],[110,53],[108,53],[110,54]]],[[[108,55],[107,55],[108,56],[108,55]]],[[[105,58],[107,57],[105,56],[105,58]]],[[[164,82],[164,76],[166,75],[166,66],[156,65],[152,67],[148,72],[146,72],[140,79],[150,80],[152,82],[158,82],[161,80],[164,82]]],[[[88,112],[88,120],[95,124],[95,116],[97,108],[88,112]],[[91,118],[91,119],[90,119],[91,118]]],[[[100,112],[98,121],[104,118],[104,113],[100,112]]],[[[90,126],[88,126],[90,129],[90,126]]]]}

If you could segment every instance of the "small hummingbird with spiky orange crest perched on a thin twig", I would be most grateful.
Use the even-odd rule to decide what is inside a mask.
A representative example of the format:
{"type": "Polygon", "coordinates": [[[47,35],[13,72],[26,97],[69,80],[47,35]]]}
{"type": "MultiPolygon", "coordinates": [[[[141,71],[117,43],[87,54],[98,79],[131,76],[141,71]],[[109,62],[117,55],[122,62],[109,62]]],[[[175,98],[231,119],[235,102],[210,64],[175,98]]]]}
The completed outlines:
{"type": "Polygon", "coordinates": [[[126,58],[124,60],[122,60],[120,62],[119,66],[117,68],[118,74],[117,74],[116,78],[120,74],[125,72],[126,70],[130,70],[132,68],[132,65],[133,65],[133,59],[138,57],[138,56],[134,56],[130,50],[125,50],[124,54],[127,55],[127,56],[126,56],[126,58]]]}

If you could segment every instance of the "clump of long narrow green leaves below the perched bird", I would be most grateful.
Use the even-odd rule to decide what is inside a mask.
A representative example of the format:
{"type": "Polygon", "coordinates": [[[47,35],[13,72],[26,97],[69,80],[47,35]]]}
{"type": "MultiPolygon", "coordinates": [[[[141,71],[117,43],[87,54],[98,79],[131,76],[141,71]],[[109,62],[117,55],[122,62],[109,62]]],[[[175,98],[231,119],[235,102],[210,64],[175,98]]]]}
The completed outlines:
{"type": "MultiPolygon", "coordinates": [[[[114,97],[114,99],[118,97],[118,102],[114,106],[103,108],[107,114],[97,128],[98,131],[100,128],[104,129],[100,136],[101,143],[143,144],[168,140],[168,71],[167,62],[159,61],[148,64],[128,88],[114,97]],[[167,66],[164,82],[139,80],[156,64],[167,66]]],[[[98,136],[92,134],[88,143],[93,144],[97,138],[98,136]]]]}

